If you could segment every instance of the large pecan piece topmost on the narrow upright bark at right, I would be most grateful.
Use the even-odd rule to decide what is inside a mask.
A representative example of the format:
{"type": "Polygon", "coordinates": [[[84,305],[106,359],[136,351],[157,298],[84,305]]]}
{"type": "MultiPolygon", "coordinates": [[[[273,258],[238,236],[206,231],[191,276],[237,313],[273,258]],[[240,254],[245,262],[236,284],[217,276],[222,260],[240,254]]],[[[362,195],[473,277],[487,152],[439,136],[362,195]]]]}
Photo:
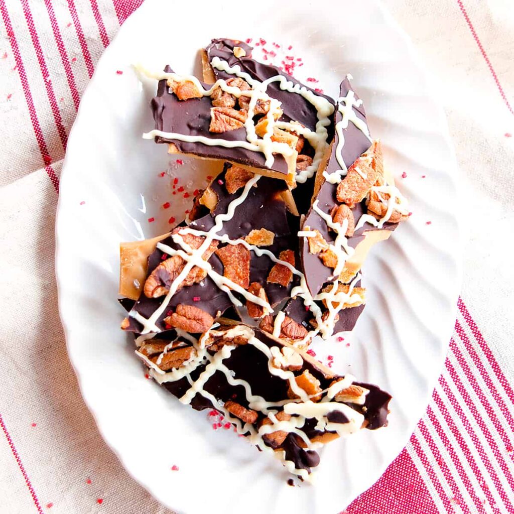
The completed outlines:
{"type": "Polygon", "coordinates": [[[355,207],[363,200],[383,174],[382,150],[380,142],[374,141],[368,151],[363,153],[348,168],[348,173],[337,186],[337,200],[355,207]]]}

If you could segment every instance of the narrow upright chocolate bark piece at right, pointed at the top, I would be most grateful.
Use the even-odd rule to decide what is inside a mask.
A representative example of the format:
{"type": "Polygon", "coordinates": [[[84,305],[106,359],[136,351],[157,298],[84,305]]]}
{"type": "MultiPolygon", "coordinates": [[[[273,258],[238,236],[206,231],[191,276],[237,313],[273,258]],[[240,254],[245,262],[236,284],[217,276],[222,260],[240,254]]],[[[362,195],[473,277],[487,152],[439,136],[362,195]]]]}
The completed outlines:
{"type": "MultiPolygon", "coordinates": [[[[305,274],[307,287],[313,297],[316,297],[327,284],[336,279],[339,279],[340,283],[350,282],[359,271],[370,247],[375,242],[389,237],[390,232],[397,226],[396,223],[388,222],[383,223],[383,227],[380,229],[369,223],[359,226],[361,216],[369,214],[366,204],[369,201],[370,190],[375,185],[375,180],[373,183],[366,183],[366,180],[369,182],[372,176],[373,179],[377,180],[379,180],[378,177],[382,177],[385,181],[385,178],[383,177],[380,145],[377,142],[372,143],[369,137],[364,107],[347,78],[341,83],[340,87],[340,100],[336,111],[336,129],[338,127],[341,129],[344,140],[340,140],[336,130],[326,169],[320,169],[316,176],[313,205],[302,222],[302,230],[311,234],[316,232],[321,237],[321,241],[326,242],[329,246],[328,250],[316,251],[313,248],[313,241],[310,241],[309,237],[300,238],[301,269],[305,274]],[[342,101],[341,99],[345,100],[342,101]],[[346,116],[343,116],[345,111],[346,116]],[[338,158],[342,159],[344,166],[341,166],[338,158]],[[365,173],[364,167],[368,167],[366,168],[369,171],[368,174],[365,173]],[[345,168],[348,169],[347,175],[345,175],[345,168]],[[347,200],[347,208],[346,210],[340,209],[337,218],[337,221],[341,221],[346,217],[346,221],[350,222],[345,225],[351,227],[351,235],[348,235],[345,241],[345,244],[350,247],[350,255],[348,255],[344,247],[341,250],[341,245],[336,242],[338,232],[333,227],[329,227],[327,221],[333,222],[333,217],[336,216],[338,208],[345,205],[341,201],[341,194],[338,198],[338,190],[343,193],[342,190],[350,183],[350,180],[353,180],[351,182],[352,188],[362,187],[363,189],[358,194],[343,195],[344,199],[347,200]],[[354,201],[355,199],[358,201],[354,201]],[[353,219],[348,217],[350,215],[353,215],[353,219]],[[355,230],[352,230],[353,226],[355,226],[355,230]],[[354,250],[353,254],[352,249],[354,250]],[[339,253],[338,257],[339,250],[342,253],[339,253]],[[339,263],[338,259],[341,256],[346,258],[346,261],[339,270],[340,274],[335,276],[336,266],[339,263]]],[[[346,190],[352,188],[347,187],[346,190]]],[[[343,318],[346,317],[346,314],[350,314],[350,310],[343,314],[343,318]]],[[[346,325],[349,326],[351,323],[346,325]]]]}

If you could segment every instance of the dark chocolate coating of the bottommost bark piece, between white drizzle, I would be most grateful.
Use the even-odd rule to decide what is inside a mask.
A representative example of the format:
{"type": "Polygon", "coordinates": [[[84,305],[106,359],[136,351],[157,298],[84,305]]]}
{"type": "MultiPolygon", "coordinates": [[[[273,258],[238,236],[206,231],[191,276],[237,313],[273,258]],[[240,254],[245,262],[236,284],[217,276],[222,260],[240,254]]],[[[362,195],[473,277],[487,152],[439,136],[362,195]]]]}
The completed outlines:
{"type": "MultiPolygon", "coordinates": [[[[281,346],[282,343],[270,336],[269,334],[260,330],[255,330],[255,337],[266,344],[268,347],[281,346]]],[[[234,372],[235,378],[241,378],[246,380],[251,387],[252,394],[260,395],[269,402],[280,401],[287,399],[287,390],[289,384],[287,380],[272,375],[268,370],[268,358],[260,350],[251,344],[245,344],[237,346],[230,354],[230,357],[225,359],[224,364],[228,369],[234,372]],[[249,365],[251,363],[251,365],[249,365]]],[[[192,374],[191,377],[196,379],[199,374],[205,369],[205,366],[199,366],[192,374]]],[[[296,372],[296,375],[300,375],[303,371],[308,370],[314,375],[320,382],[321,388],[326,389],[330,386],[333,380],[341,378],[340,375],[326,374],[317,364],[314,359],[304,357],[302,369],[296,372]]],[[[388,404],[391,396],[381,391],[372,384],[356,382],[357,385],[368,389],[370,392],[366,395],[365,403],[363,406],[356,405],[354,403],[347,403],[352,409],[360,412],[364,416],[364,424],[368,429],[376,429],[387,425],[388,415],[388,404]]],[[[182,396],[190,388],[189,382],[186,378],[183,378],[177,382],[164,382],[166,387],[172,394],[177,397],[182,396]]],[[[242,386],[231,386],[224,373],[217,371],[212,377],[210,377],[204,389],[214,395],[217,400],[226,402],[232,400],[245,408],[249,408],[246,400],[246,393],[242,386]]],[[[216,408],[216,405],[197,394],[193,401],[192,407],[197,410],[216,408]]],[[[264,418],[262,413],[259,413],[259,418],[256,424],[259,424],[260,420],[264,418]]],[[[332,412],[327,416],[328,420],[332,423],[348,423],[346,416],[339,411],[332,412]]],[[[306,420],[304,431],[309,438],[313,438],[316,435],[321,435],[323,432],[316,430],[317,425],[316,419],[306,420]]],[[[286,452],[287,460],[295,463],[297,469],[306,469],[308,472],[311,468],[316,467],[319,464],[319,455],[315,451],[305,450],[301,448],[296,437],[289,434],[285,439],[282,448],[286,452]]]]}

